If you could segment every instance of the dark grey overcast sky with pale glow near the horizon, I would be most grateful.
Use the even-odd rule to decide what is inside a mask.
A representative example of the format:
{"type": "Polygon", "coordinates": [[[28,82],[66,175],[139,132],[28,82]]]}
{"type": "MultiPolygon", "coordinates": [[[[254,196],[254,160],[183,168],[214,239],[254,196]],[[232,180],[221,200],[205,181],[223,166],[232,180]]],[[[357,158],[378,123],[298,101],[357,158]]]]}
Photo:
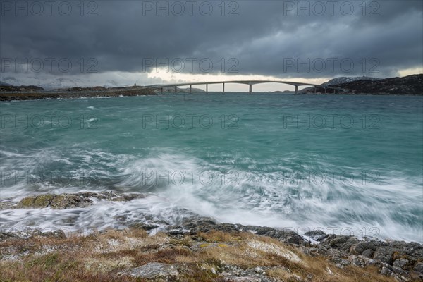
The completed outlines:
{"type": "Polygon", "coordinates": [[[0,80],[11,84],[422,73],[420,0],[0,3],[0,80]]]}

